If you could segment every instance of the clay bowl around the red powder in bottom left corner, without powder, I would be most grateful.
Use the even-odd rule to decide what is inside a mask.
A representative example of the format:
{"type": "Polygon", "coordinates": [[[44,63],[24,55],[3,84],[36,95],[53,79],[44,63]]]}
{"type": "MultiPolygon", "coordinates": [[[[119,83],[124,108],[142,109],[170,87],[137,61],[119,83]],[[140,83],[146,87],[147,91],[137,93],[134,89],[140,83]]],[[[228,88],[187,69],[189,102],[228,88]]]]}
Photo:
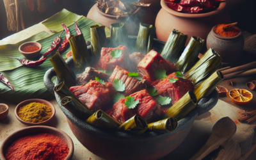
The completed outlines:
{"type": "Polygon", "coordinates": [[[71,138],[68,136],[67,133],[61,131],[60,129],[56,129],[54,127],[48,127],[48,126],[32,126],[32,127],[26,127],[23,129],[19,129],[18,131],[13,132],[4,139],[3,143],[0,146],[0,159],[5,159],[4,153],[8,147],[13,143],[13,141],[24,137],[29,136],[31,134],[40,134],[40,133],[49,133],[53,134],[54,136],[58,136],[63,140],[69,149],[68,156],[65,158],[65,160],[71,160],[74,154],[74,143],[71,140],[71,138]]]}

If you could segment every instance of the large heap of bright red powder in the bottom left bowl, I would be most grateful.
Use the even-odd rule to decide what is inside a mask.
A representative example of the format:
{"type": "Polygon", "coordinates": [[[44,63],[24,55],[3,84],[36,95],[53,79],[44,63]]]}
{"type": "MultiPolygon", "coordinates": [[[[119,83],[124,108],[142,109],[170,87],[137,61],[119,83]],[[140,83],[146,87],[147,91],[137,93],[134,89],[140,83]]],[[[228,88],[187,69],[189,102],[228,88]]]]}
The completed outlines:
{"type": "Polygon", "coordinates": [[[60,137],[40,133],[14,141],[7,148],[4,157],[6,160],[63,160],[68,152],[67,144],[60,137]]]}

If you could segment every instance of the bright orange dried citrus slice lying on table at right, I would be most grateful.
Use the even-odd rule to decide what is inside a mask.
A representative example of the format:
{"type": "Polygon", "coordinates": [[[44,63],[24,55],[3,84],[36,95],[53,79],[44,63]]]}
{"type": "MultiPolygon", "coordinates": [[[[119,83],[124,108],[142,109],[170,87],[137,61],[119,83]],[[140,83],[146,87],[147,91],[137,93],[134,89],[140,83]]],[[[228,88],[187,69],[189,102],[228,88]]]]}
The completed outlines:
{"type": "Polygon", "coordinates": [[[252,93],[244,89],[234,89],[228,92],[228,97],[236,104],[247,104],[252,100],[252,93]]]}

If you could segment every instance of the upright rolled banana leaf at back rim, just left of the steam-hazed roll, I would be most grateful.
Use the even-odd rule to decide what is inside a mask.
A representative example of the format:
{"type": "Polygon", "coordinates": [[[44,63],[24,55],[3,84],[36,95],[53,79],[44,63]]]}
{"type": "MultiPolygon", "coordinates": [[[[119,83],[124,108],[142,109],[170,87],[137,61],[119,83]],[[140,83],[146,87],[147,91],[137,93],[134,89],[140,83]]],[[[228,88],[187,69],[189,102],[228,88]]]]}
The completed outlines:
{"type": "Polygon", "coordinates": [[[90,27],[90,31],[92,56],[100,58],[100,51],[102,47],[108,47],[105,26],[99,26],[98,24],[95,24],[90,27]]]}

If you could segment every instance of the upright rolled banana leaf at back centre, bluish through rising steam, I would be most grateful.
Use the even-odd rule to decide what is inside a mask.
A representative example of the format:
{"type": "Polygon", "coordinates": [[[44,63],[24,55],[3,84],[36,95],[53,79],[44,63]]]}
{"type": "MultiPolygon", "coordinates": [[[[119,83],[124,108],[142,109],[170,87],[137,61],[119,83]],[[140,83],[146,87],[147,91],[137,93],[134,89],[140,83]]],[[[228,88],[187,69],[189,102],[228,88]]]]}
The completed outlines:
{"type": "Polygon", "coordinates": [[[111,47],[118,47],[119,45],[128,46],[128,33],[125,23],[113,23],[110,26],[111,47]]]}

